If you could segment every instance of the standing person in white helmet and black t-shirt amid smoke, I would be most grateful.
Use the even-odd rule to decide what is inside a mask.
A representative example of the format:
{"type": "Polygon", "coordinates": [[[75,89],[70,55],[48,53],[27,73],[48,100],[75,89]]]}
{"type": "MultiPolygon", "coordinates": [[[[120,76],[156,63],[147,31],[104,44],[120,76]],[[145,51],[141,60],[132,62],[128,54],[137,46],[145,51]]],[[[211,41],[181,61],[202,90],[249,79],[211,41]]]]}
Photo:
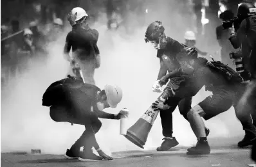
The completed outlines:
{"type": "Polygon", "coordinates": [[[66,60],[71,61],[76,76],[80,76],[78,70],[82,72],[84,81],[95,84],[95,68],[100,67],[100,51],[97,46],[98,31],[89,28],[86,23],[87,13],[83,8],[73,8],[68,15],[69,23],[72,26],[66,37],[64,55],[66,60]],[[72,47],[72,58],[69,51],[72,47]],[[78,67],[78,68],[77,68],[78,67]]]}

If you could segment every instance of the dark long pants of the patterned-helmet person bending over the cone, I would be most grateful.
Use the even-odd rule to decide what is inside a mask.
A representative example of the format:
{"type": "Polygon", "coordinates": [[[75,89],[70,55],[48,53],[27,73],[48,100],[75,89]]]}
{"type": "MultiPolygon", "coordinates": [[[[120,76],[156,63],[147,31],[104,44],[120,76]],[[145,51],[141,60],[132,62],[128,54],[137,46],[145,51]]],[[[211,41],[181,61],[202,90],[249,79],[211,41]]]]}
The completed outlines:
{"type": "Polygon", "coordinates": [[[191,109],[192,97],[184,99],[169,98],[167,104],[170,106],[167,110],[160,110],[161,125],[163,128],[163,136],[172,137],[172,112],[179,106],[179,113],[184,116],[186,120],[187,113],[191,109]]]}

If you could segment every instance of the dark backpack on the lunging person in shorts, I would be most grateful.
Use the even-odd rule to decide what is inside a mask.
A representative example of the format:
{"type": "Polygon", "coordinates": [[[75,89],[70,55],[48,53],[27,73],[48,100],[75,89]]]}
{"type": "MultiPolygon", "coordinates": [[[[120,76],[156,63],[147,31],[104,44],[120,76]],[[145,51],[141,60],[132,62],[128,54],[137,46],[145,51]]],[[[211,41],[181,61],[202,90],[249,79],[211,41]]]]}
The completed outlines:
{"type": "Polygon", "coordinates": [[[214,69],[215,71],[223,74],[223,76],[231,83],[242,83],[242,77],[235,72],[232,68],[228,67],[228,65],[224,65],[221,61],[208,61],[206,63],[208,67],[214,69]]]}

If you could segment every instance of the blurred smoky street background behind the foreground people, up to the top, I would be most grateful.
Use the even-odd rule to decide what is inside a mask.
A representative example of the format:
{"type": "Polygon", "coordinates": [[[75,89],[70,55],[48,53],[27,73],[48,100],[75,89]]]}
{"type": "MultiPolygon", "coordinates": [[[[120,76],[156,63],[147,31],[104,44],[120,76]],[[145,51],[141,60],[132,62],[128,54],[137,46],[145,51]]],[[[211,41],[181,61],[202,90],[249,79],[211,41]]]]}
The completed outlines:
{"type": "MultiPolygon", "coordinates": [[[[167,36],[185,42],[186,31],[196,33],[196,47],[221,60],[216,28],[226,10],[236,15],[241,0],[3,0],[1,1],[1,152],[29,151],[64,154],[82,134],[84,127],[51,120],[49,108],[41,106],[48,86],[67,76],[69,63],[63,58],[66,35],[71,31],[66,17],[80,6],[88,22],[100,33],[98,47],[102,65],[95,72],[96,85],[117,84],[123,100],[109,113],[122,107],[130,110],[129,124],[159,96],[152,92],[160,63],[156,50],[145,44],[147,26],[163,22],[167,36]],[[28,47],[26,38],[32,39],[28,47]],[[33,49],[30,49],[33,48],[33,49]]],[[[256,1],[247,1],[256,3],[256,1]]],[[[193,106],[209,95],[204,88],[193,98],[193,106]]],[[[178,109],[176,109],[178,110],[178,109]]],[[[189,123],[174,112],[174,136],[180,145],[196,142],[189,123]]],[[[119,134],[120,122],[102,120],[96,138],[105,152],[140,149],[119,134]]],[[[233,145],[244,136],[233,108],[206,122],[217,145],[233,145]],[[220,141],[220,140],[218,140],[220,141]]],[[[161,122],[157,118],[146,149],[161,144],[161,122]]],[[[210,145],[214,143],[210,142],[210,145]]],[[[216,145],[216,144],[215,144],[216,145]]]]}

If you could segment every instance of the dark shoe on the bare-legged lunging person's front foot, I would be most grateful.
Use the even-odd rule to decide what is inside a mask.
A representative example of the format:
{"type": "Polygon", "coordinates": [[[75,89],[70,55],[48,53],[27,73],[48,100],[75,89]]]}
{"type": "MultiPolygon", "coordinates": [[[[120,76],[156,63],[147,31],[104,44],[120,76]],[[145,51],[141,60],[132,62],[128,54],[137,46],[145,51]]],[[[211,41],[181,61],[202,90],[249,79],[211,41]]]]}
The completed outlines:
{"type": "Polygon", "coordinates": [[[197,141],[196,147],[188,148],[188,155],[210,154],[210,146],[207,141],[197,141]]]}

